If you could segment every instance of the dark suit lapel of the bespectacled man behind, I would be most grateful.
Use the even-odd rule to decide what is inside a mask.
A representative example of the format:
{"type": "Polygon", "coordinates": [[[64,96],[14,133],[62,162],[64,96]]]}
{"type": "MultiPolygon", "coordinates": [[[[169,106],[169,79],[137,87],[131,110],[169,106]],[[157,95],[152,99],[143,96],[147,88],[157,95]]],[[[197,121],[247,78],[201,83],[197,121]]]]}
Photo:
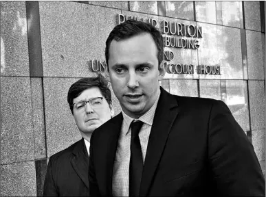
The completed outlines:
{"type": "Polygon", "coordinates": [[[73,157],[70,162],[78,176],[80,176],[80,179],[89,189],[89,155],[85,149],[86,145],[82,138],[72,151],[73,157]]]}

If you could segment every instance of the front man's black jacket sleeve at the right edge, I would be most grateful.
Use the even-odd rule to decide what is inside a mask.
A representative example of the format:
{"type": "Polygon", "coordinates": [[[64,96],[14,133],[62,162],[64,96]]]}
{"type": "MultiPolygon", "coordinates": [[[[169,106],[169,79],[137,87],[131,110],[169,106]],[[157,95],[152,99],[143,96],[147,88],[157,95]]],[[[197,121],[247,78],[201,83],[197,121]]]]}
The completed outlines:
{"type": "Polygon", "coordinates": [[[221,196],[265,196],[265,179],[245,132],[223,101],[214,101],[208,124],[208,158],[221,196]]]}

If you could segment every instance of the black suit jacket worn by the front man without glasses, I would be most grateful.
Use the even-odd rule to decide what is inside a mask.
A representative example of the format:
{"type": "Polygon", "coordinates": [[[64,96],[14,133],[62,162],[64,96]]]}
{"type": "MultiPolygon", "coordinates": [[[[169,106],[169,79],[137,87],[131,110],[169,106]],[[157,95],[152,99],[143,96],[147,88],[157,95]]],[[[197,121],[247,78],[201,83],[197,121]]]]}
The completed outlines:
{"type": "MultiPolygon", "coordinates": [[[[91,196],[112,196],[118,114],[91,136],[91,196]]],[[[264,196],[254,148],[223,101],[175,96],[161,88],[140,196],[264,196]]]]}

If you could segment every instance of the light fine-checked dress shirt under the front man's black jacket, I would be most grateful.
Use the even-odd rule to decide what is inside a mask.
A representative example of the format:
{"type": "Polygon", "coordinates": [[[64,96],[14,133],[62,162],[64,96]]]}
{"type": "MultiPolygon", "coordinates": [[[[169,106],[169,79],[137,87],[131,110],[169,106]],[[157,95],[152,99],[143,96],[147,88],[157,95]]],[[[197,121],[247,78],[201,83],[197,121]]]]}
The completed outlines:
{"type": "MultiPolygon", "coordinates": [[[[159,94],[151,109],[146,111],[145,114],[140,116],[139,119],[143,123],[140,129],[140,146],[142,148],[143,163],[145,161],[146,150],[148,146],[148,137],[151,133],[151,126],[153,125],[153,118],[155,115],[155,109],[159,101],[159,94]]],[[[123,122],[121,127],[120,136],[118,138],[118,147],[115,154],[115,162],[113,165],[113,196],[129,196],[129,161],[130,161],[130,144],[131,144],[131,128],[130,124],[135,119],[127,116],[122,111],[123,122]]]]}

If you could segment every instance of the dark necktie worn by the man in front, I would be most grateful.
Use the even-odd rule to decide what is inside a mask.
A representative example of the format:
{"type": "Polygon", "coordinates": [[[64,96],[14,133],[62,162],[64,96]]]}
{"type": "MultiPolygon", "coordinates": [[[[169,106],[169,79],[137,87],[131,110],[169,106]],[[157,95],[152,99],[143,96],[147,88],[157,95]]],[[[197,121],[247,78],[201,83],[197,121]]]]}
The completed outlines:
{"type": "Polygon", "coordinates": [[[131,144],[129,163],[129,196],[140,196],[140,183],[142,181],[143,159],[140,146],[140,128],[143,122],[131,122],[131,144]]]}

